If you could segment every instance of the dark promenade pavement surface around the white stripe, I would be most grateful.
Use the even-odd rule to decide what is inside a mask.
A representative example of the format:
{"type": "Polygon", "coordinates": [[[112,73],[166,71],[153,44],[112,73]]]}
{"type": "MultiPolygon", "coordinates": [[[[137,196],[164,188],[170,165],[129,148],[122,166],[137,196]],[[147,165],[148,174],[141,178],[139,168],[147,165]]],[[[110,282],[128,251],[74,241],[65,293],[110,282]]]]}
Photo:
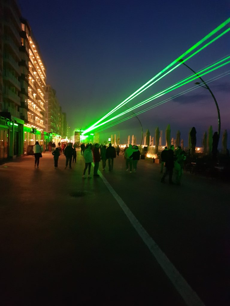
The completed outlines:
{"type": "Polygon", "coordinates": [[[28,156],[0,166],[2,305],[195,305],[116,195],[194,295],[229,305],[229,185],[190,174],[180,187],[161,184],[159,165],[140,160],[129,173],[123,155],[111,172],[100,165],[104,180],[82,178],[79,151],[72,169],[64,156],[54,169],[50,152],[33,165],[28,156]]]}

